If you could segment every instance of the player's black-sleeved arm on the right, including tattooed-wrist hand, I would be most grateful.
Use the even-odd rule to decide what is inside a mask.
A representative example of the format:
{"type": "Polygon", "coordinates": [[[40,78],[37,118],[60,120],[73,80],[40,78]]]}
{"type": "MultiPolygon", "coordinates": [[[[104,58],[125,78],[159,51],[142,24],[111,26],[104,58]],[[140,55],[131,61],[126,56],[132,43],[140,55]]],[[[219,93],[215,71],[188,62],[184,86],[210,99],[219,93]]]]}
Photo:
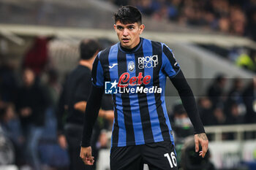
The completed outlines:
{"type": "Polygon", "coordinates": [[[202,146],[200,156],[204,157],[208,150],[208,139],[206,132],[203,128],[203,123],[200,120],[200,116],[197,111],[195,103],[195,97],[192,93],[187,80],[181,70],[176,74],[175,77],[170,79],[173,82],[174,87],[178,90],[178,95],[181,97],[182,104],[187,111],[187,115],[192,122],[195,129],[195,151],[199,151],[199,144],[202,146]]]}

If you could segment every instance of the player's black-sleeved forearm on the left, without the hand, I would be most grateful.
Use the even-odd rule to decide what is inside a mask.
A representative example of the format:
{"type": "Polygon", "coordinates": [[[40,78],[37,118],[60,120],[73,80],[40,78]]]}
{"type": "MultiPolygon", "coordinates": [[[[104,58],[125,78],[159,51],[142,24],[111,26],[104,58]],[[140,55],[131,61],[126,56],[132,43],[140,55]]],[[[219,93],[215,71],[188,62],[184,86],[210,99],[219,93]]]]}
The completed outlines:
{"type": "Polygon", "coordinates": [[[83,136],[81,147],[89,147],[91,141],[92,129],[99,114],[99,108],[102,100],[102,88],[97,88],[92,85],[91,94],[86,104],[86,113],[83,121],[83,136]]]}

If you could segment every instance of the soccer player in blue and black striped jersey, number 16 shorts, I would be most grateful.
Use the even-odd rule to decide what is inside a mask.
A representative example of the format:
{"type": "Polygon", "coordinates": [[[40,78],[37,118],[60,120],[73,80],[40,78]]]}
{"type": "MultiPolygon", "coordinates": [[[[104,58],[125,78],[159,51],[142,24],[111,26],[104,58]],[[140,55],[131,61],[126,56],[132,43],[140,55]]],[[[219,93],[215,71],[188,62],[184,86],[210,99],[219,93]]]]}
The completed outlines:
{"type": "Polygon", "coordinates": [[[195,151],[204,157],[208,139],[195,98],[167,45],[143,39],[140,11],[124,6],[114,14],[120,42],[99,52],[92,69],[92,90],[86,106],[80,158],[92,165],[90,138],[102,93],[111,92],[115,120],[110,169],[177,169],[173,133],[165,106],[165,81],[170,77],[195,128],[195,151]],[[111,84],[110,86],[108,84],[111,84]],[[107,89],[108,88],[108,89],[107,89]]]}

